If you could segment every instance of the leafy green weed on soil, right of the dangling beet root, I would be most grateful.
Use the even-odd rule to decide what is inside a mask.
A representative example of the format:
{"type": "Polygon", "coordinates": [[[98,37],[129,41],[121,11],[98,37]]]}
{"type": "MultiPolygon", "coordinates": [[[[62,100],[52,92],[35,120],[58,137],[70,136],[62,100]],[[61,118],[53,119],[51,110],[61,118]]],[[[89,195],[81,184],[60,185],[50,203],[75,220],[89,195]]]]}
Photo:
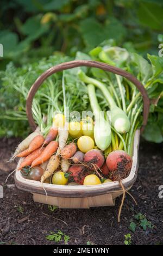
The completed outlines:
{"type": "Polygon", "coordinates": [[[147,228],[153,228],[151,221],[148,221],[146,216],[141,214],[141,212],[139,212],[139,214],[136,214],[134,218],[136,220],[136,223],[134,221],[131,221],[129,225],[129,230],[131,230],[132,232],[135,232],[136,226],[141,227],[143,230],[147,230],[147,228]]]}

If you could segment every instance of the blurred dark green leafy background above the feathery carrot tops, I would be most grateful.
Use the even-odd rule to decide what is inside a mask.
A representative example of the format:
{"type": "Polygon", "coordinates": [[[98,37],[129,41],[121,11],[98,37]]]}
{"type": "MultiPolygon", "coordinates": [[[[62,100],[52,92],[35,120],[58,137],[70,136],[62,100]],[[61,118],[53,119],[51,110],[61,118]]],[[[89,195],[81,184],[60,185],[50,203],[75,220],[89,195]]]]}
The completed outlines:
{"type": "Polygon", "coordinates": [[[162,2],[154,0],[2,0],[1,68],[9,60],[23,64],[55,51],[74,56],[108,39],[131,51],[155,54],[162,42],[162,10],[162,2]]]}

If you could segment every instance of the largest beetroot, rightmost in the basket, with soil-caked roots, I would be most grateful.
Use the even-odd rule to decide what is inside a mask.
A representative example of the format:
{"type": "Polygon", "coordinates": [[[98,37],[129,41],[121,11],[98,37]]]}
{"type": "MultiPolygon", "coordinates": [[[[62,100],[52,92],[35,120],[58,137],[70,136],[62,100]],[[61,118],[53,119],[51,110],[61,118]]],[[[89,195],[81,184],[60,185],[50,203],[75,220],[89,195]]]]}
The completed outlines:
{"type": "Polygon", "coordinates": [[[106,164],[110,171],[110,179],[122,180],[127,177],[132,167],[131,157],[123,150],[112,151],[106,158],[106,164]]]}

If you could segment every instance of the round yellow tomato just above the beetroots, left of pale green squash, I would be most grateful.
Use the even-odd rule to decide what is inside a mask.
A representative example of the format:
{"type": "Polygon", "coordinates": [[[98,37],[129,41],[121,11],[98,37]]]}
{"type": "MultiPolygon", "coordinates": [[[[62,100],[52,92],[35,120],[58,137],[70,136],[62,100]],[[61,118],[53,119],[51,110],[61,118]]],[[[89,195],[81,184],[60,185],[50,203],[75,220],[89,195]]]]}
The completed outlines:
{"type": "Polygon", "coordinates": [[[89,136],[82,136],[78,139],[78,148],[83,153],[86,153],[87,151],[93,149],[95,147],[95,143],[93,139],[89,136]]]}

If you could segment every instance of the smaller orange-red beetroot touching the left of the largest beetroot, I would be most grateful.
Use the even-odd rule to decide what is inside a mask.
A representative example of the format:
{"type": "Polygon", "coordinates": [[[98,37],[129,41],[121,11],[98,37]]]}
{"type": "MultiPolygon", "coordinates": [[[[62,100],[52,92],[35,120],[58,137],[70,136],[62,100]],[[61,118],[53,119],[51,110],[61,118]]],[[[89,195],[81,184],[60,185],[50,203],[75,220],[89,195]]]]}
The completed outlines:
{"type": "Polygon", "coordinates": [[[99,149],[91,149],[84,155],[84,162],[88,163],[88,168],[98,170],[104,163],[104,156],[99,149]]]}

